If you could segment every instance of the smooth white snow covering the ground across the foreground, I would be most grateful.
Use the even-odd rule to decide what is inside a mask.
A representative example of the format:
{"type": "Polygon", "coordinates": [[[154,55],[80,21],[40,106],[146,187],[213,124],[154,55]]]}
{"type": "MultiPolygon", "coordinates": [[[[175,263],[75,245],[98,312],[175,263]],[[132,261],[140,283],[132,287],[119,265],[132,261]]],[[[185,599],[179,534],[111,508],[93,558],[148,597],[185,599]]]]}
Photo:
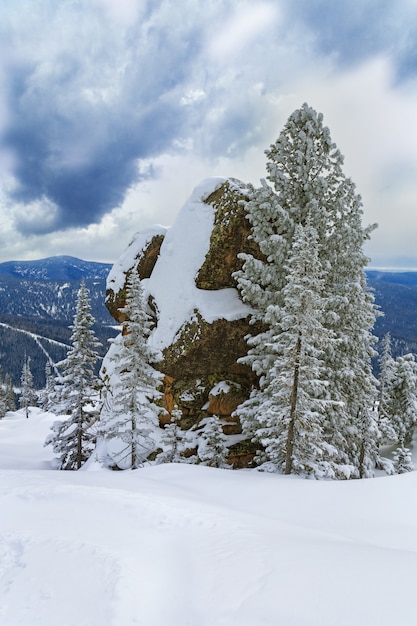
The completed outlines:
{"type": "Polygon", "coordinates": [[[2,626],[414,623],[417,472],[60,472],[53,419],[0,420],[2,626]]]}

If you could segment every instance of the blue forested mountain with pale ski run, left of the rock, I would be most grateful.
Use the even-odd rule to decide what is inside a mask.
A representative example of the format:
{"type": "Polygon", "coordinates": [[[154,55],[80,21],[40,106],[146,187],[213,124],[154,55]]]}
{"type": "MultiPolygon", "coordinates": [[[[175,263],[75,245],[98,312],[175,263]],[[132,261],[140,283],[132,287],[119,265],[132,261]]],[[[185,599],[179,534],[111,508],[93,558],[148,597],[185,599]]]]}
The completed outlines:
{"type": "Polygon", "coordinates": [[[25,354],[31,358],[35,386],[45,380],[45,364],[66,356],[76,309],[84,280],[90,293],[94,330],[102,343],[116,334],[114,320],[104,304],[106,279],[112,265],[56,256],[35,261],[0,263],[0,368],[16,386],[25,354]]]}

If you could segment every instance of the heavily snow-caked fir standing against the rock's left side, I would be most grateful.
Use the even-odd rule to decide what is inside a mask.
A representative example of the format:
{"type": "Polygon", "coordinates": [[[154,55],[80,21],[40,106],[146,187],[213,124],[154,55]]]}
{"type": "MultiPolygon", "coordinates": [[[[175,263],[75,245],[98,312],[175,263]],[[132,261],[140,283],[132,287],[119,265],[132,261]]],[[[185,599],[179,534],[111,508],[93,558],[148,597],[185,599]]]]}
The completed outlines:
{"type": "MultiPolygon", "coordinates": [[[[136,271],[127,279],[126,316],[123,335],[114,345],[113,371],[107,378],[101,412],[100,433],[114,446],[113,463],[121,469],[141,467],[156,450],[151,436],[159,429],[158,416],[163,409],[156,404],[161,397],[158,387],[162,374],[152,363],[158,353],[149,345],[151,320],[146,311],[142,283],[136,271]]],[[[109,462],[109,461],[105,461],[109,462]]]]}

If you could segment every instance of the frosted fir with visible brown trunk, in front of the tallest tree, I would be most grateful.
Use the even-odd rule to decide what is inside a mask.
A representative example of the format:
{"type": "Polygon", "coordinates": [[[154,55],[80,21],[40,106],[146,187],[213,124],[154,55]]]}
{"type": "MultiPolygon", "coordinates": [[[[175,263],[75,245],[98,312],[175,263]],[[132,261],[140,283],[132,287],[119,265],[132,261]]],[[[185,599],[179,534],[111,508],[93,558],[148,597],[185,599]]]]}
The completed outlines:
{"type": "MultiPolygon", "coordinates": [[[[333,343],[332,334],[323,326],[325,299],[322,296],[324,273],[318,258],[317,232],[307,219],[298,224],[286,266],[282,305],[269,305],[265,321],[269,325],[268,344],[274,358],[272,367],[262,371],[256,359],[251,364],[261,373],[260,389],[242,405],[239,414],[263,446],[261,458],[286,474],[303,473],[333,477],[334,447],[326,441],[326,408],[333,406],[323,363],[324,348],[333,343]]],[[[249,340],[258,348],[265,333],[249,340]]],[[[252,355],[250,355],[252,357],[252,355]]]]}

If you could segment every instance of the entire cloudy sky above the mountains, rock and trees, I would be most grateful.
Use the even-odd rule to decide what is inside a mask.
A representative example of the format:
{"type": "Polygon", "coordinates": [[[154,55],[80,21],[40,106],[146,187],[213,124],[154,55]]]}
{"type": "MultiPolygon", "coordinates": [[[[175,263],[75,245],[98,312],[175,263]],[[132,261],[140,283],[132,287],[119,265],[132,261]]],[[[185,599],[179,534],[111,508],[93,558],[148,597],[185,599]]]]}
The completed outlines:
{"type": "Polygon", "coordinates": [[[304,102],[417,268],[417,0],[1,0],[0,262],[113,263],[211,176],[255,185],[304,102]]]}

